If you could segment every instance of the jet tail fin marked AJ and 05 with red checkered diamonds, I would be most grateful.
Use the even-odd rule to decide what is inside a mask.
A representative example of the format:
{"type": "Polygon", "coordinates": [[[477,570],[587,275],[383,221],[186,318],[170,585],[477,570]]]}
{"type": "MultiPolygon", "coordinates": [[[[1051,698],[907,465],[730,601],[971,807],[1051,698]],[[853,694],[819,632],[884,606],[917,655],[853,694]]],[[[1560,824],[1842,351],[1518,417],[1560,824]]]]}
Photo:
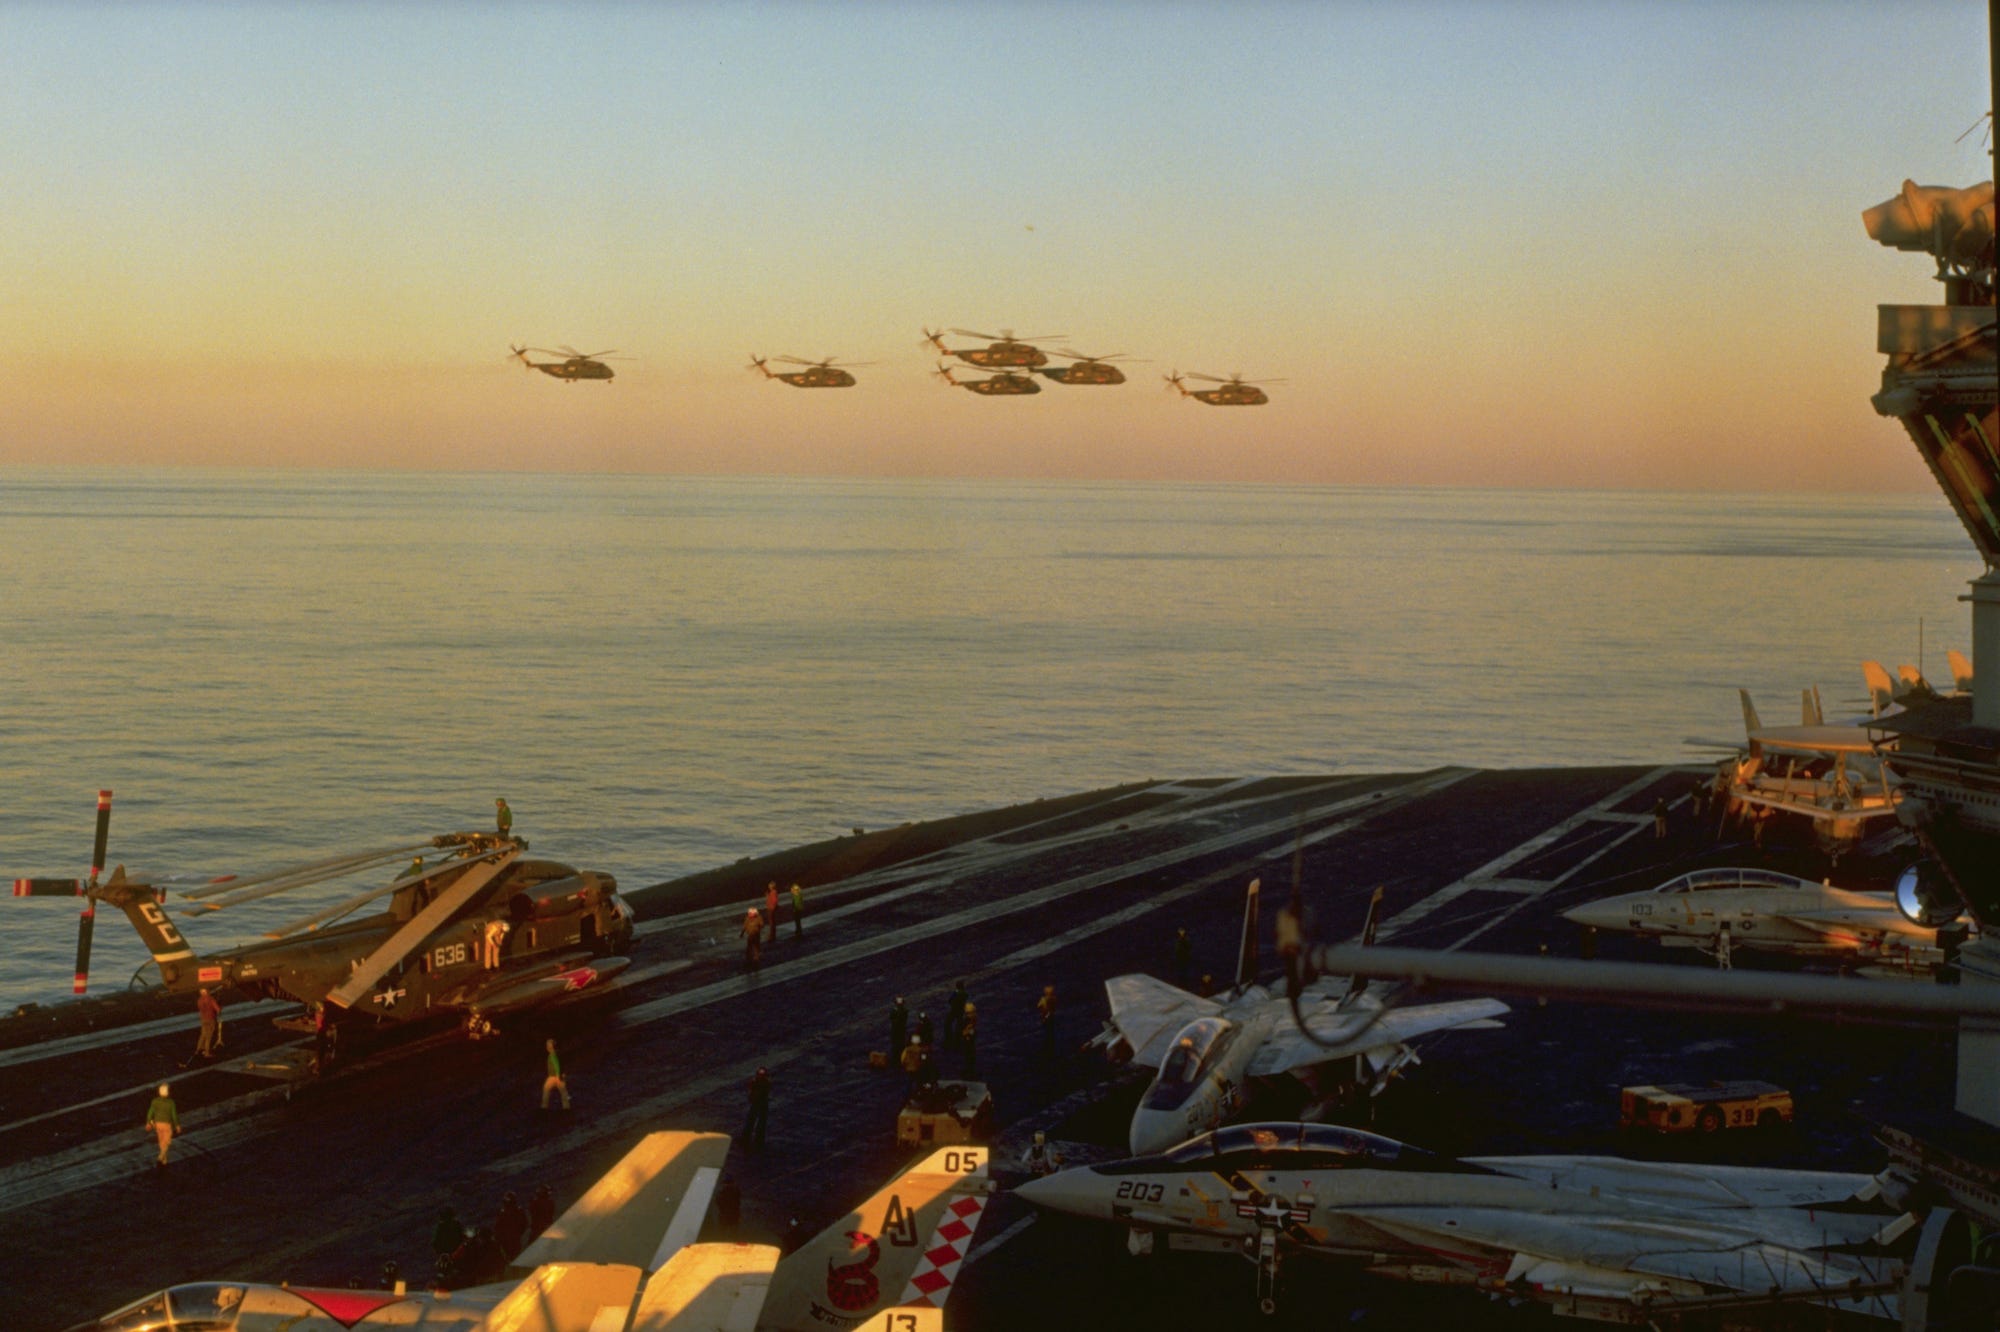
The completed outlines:
{"type": "Polygon", "coordinates": [[[992,1194],[986,1162],[984,1146],[938,1148],[782,1258],[760,1332],[874,1328],[890,1308],[944,1308],[992,1194]]]}

